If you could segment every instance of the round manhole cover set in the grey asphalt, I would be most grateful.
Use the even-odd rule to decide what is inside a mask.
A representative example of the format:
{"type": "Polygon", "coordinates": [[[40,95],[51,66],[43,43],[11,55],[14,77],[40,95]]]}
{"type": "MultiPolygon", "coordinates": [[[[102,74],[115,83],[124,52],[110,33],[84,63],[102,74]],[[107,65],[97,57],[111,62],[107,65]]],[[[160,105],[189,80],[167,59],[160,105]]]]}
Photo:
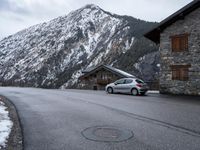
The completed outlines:
{"type": "Polygon", "coordinates": [[[113,126],[95,126],[83,130],[82,135],[93,141],[121,142],[132,138],[133,132],[113,126]]]}

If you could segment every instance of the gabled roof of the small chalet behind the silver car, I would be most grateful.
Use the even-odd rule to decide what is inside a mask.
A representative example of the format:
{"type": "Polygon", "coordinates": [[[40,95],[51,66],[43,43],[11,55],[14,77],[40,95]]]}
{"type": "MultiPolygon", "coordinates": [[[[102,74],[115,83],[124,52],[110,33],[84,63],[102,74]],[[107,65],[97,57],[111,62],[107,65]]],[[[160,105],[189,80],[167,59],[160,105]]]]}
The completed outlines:
{"type": "Polygon", "coordinates": [[[134,78],[135,76],[132,75],[132,74],[129,74],[125,71],[122,71],[120,69],[117,69],[117,68],[114,68],[114,67],[111,67],[111,66],[108,66],[108,65],[100,65],[100,66],[97,66],[97,67],[91,67],[91,68],[88,68],[86,70],[83,71],[84,75],[82,75],[80,78],[84,78],[84,77],[87,77],[93,73],[95,73],[96,71],[99,71],[101,69],[105,69],[105,70],[108,70],[122,78],[134,78]]]}

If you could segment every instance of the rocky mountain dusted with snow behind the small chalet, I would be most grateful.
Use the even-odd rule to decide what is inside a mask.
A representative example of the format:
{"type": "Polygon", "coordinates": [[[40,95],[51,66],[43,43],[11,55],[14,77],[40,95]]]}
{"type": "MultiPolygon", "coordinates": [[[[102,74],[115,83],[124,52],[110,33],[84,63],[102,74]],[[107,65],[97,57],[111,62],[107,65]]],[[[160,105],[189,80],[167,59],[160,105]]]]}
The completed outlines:
{"type": "Polygon", "coordinates": [[[134,73],[141,57],[157,51],[142,37],[153,25],[86,5],[0,41],[0,82],[70,87],[82,70],[102,63],[134,73]]]}

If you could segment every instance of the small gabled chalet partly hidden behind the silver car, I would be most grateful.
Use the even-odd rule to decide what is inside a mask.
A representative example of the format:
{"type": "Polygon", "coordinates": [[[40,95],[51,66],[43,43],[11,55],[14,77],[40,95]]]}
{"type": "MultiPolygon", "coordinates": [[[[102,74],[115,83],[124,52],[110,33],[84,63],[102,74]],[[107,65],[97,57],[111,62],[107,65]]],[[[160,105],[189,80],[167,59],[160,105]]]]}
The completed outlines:
{"type": "Polygon", "coordinates": [[[107,65],[100,65],[96,68],[89,68],[83,71],[79,78],[79,88],[104,90],[105,86],[120,78],[134,78],[135,76],[107,65]]]}

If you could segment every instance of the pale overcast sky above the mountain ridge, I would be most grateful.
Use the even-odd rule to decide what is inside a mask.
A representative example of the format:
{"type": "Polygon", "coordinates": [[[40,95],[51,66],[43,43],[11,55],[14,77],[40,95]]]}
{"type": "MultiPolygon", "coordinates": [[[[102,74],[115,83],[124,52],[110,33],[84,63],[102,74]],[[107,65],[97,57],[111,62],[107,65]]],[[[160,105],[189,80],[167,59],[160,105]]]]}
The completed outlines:
{"type": "Polygon", "coordinates": [[[31,25],[68,14],[86,4],[160,22],[192,0],[0,0],[0,40],[31,25]]]}

